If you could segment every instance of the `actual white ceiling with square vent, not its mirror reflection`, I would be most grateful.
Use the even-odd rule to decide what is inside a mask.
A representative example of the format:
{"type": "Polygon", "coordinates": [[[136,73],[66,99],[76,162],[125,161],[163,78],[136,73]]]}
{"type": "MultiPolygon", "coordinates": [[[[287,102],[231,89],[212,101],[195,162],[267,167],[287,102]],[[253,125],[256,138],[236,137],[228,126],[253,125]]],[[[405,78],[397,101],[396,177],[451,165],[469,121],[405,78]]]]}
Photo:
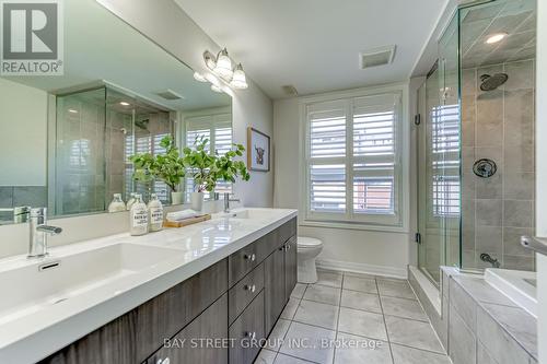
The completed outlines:
{"type": "Polygon", "coordinates": [[[406,80],[447,0],[175,0],[272,98],[406,80]],[[389,66],[359,52],[395,44],[389,66]]]}

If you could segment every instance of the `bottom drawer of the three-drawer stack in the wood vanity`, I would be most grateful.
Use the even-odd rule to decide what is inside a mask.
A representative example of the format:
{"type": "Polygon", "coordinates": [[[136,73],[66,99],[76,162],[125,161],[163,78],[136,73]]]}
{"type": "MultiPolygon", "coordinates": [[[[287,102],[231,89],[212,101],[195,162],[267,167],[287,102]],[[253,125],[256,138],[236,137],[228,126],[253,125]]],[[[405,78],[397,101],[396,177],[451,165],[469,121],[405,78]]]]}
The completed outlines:
{"type": "Polygon", "coordinates": [[[252,364],[260,351],[264,332],[264,291],[253,300],[230,327],[230,363],[252,364]]]}

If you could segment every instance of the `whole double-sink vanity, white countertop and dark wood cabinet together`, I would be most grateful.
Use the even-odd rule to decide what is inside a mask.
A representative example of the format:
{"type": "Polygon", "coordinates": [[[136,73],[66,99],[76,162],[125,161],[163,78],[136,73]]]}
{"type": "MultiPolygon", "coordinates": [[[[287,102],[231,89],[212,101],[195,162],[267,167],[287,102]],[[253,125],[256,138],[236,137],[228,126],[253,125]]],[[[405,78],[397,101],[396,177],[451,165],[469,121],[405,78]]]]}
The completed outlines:
{"type": "Polygon", "coordinates": [[[93,265],[105,270],[44,292],[34,306],[12,307],[0,320],[0,362],[253,363],[259,348],[251,343],[269,334],[296,283],[295,215],[246,209],[142,237],[53,248],[42,265],[0,260],[13,274],[59,263],[34,278],[19,272],[22,284],[70,282],[93,265]],[[113,256],[121,269],[108,274],[113,256]]]}

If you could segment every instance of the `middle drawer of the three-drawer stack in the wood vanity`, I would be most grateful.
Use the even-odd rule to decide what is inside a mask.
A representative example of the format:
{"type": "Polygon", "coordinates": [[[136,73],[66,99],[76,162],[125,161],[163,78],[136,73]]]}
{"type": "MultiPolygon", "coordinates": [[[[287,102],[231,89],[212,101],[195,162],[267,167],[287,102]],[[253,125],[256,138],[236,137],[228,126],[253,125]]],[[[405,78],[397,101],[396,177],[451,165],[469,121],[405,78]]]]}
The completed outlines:
{"type": "Polygon", "coordinates": [[[230,289],[229,317],[232,324],[264,287],[264,263],[253,269],[237,284],[230,289]]]}

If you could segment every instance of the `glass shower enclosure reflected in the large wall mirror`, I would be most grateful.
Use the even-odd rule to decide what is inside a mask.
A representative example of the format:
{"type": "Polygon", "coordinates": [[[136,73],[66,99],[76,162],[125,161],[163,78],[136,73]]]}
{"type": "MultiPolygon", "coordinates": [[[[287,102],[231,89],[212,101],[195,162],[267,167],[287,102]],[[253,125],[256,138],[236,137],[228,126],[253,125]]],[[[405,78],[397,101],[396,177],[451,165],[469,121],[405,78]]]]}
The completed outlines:
{"type": "Polygon", "coordinates": [[[174,128],[168,110],[106,86],[57,95],[49,208],[56,215],[103,212],[114,193],[127,201],[131,192],[168,202],[164,183],[132,179],[129,156],[164,153],[160,141],[174,128]]]}

